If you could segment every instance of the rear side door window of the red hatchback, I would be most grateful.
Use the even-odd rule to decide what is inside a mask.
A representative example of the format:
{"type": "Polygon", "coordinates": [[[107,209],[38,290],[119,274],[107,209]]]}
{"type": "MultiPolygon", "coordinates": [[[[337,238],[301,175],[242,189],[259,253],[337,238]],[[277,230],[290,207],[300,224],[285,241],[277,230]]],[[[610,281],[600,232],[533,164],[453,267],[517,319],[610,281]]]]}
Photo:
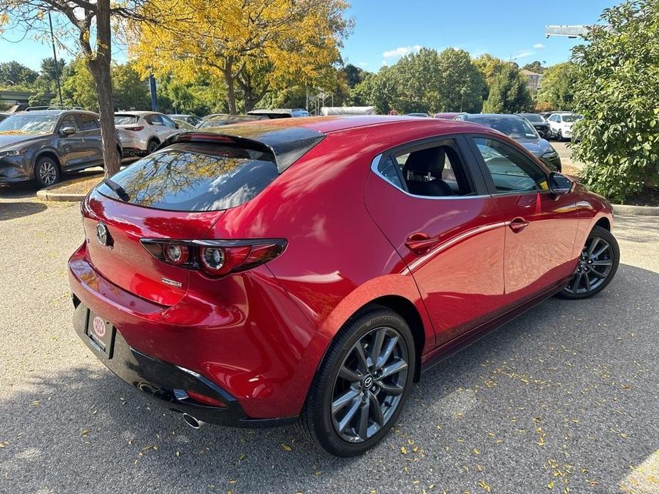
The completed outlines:
{"type": "Polygon", "coordinates": [[[391,184],[415,196],[474,194],[467,169],[452,139],[421,149],[408,148],[386,154],[378,163],[378,172],[391,184]]]}

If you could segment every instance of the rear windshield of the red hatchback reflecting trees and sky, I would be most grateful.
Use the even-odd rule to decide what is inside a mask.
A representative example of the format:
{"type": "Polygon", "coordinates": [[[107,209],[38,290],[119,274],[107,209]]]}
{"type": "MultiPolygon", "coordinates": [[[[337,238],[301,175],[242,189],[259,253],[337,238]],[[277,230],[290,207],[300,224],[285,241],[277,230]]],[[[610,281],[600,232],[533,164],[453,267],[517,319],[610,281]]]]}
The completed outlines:
{"type": "MultiPolygon", "coordinates": [[[[240,206],[279,175],[272,154],[244,147],[181,143],[113,175],[128,202],[170,211],[219,211],[240,206]]],[[[101,194],[118,198],[100,184],[101,194]]],[[[124,198],[125,199],[125,198],[124,198]]]]}

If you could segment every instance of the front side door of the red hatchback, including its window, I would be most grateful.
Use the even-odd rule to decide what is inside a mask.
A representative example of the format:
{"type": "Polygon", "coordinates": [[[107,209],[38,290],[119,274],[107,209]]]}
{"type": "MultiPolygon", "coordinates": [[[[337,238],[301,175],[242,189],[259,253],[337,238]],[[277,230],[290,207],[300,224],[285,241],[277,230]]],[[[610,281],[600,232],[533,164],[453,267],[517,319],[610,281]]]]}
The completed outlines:
{"type": "Polygon", "coordinates": [[[512,143],[491,135],[468,139],[507,226],[505,292],[507,304],[517,305],[574,272],[576,199],[551,194],[548,172],[512,143]]]}

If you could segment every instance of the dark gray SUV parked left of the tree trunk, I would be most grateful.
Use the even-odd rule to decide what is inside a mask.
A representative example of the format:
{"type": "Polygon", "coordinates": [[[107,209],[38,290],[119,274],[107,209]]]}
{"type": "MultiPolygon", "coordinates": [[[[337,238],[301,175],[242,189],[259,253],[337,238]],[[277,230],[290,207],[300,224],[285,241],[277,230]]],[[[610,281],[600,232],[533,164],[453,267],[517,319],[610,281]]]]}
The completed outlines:
{"type": "Polygon", "coordinates": [[[33,179],[48,186],[62,172],[98,166],[103,144],[96,113],[27,110],[0,122],[0,184],[33,179]]]}

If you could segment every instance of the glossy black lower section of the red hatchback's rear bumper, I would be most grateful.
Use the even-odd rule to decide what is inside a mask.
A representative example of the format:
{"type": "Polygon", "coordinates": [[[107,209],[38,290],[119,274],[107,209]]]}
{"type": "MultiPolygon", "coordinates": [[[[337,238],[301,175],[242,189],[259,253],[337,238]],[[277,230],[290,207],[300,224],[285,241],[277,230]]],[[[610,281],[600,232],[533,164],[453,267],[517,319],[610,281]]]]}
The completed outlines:
{"type": "Polygon", "coordinates": [[[162,362],[131,348],[119,331],[115,332],[112,356],[100,352],[85,334],[88,308],[74,298],[73,328],[85,345],[124,382],[141,391],[172,411],[190,414],[195,419],[231,427],[270,427],[290,424],[297,417],[284,419],[250,419],[237,399],[209,379],[190,369],[162,362]],[[185,391],[219,399],[225,407],[199,404],[185,391]]]}

